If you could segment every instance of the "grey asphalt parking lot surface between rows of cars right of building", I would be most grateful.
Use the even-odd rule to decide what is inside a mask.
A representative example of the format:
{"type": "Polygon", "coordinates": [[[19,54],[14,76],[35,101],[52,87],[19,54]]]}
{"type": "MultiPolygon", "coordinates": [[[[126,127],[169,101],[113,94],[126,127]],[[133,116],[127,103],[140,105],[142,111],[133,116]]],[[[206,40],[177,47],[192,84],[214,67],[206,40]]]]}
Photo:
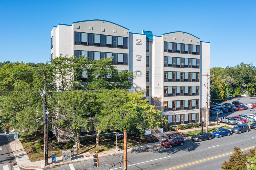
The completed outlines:
{"type": "MultiPolygon", "coordinates": [[[[256,97],[232,97],[232,99],[230,99],[229,101],[224,101],[220,104],[224,104],[224,103],[232,103],[232,101],[240,101],[243,104],[251,104],[251,103],[255,103],[256,102],[256,97]]],[[[215,103],[217,103],[216,101],[213,101],[215,103]]],[[[210,104],[213,104],[212,102],[210,102],[210,104]]],[[[233,111],[233,112],[227,112],[227,113],[222,113],[219,114],[218,117],[223,117],[223,116],[227,116],[227,117],[232,117],[232,116],[237,116],[238,114],[255,114],[256,113],[256,108],[251,109],[251,111],[249,109],[246,110],[238,110],[238,111],[233,111]]],[[[210,121],[216,122],[216,117],[217,114],[214,115],[210,115],[210,121]]]]}

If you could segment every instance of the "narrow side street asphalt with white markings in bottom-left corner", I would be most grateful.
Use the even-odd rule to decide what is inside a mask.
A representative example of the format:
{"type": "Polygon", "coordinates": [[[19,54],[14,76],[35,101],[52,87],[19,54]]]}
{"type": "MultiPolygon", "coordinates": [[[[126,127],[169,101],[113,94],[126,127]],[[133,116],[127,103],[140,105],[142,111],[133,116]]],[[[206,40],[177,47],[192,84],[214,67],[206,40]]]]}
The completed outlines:
{"type": "Polygon", "coordinates": [[[13,165],[15,163],[16,161],[6,134],[0,130],[0,170],[14,169],[13,165]]]}

